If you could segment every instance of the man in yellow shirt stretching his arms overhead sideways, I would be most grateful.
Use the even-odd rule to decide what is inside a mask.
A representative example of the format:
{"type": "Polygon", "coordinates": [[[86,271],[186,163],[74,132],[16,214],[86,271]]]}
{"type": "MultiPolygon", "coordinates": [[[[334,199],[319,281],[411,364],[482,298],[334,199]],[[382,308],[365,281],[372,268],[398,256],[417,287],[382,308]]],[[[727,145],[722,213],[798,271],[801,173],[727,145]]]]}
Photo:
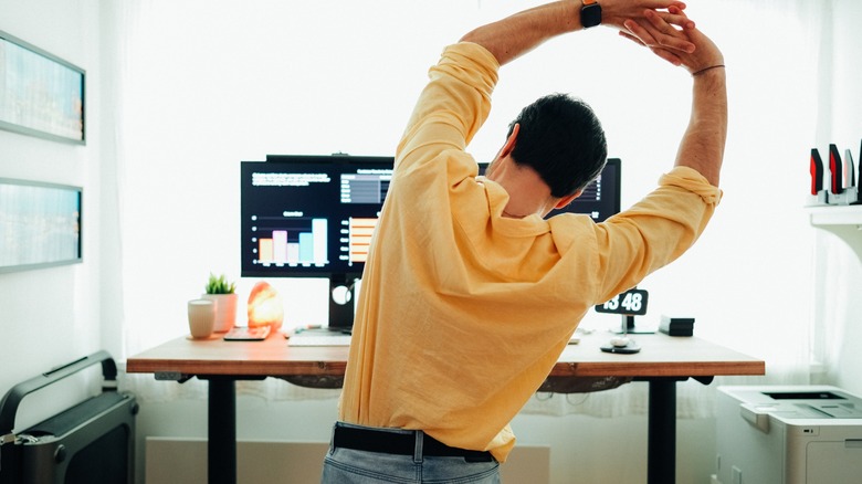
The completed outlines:
{"type": "Polygon", "coordinates": [[[667,0],[565,0],[481,27],[449,46],[398,146],[366,263],[325,483],[498,482],[508,422],[595,304],[670,263],[721,198],[723,57],[667,0]],[[487,170],[465,147],[490,111],[500,65],[600,23],[693,74],[675,167],[630,210],[593,223],[543,220],[605,164],[584,103],[526,107],[487,170]]]}

